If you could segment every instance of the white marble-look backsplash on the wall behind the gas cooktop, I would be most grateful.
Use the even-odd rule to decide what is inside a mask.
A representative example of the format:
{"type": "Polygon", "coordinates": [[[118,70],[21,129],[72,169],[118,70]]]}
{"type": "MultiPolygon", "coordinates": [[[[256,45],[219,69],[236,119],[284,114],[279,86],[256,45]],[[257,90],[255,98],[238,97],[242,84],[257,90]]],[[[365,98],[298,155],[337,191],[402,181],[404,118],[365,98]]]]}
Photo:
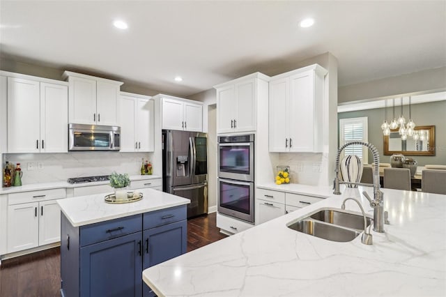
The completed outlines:
{"type": "MultiPolygon", "coordinates": [[[[140,174],[141,160],[152,161],[153,153],[118,153],[112,151],[82,151],[70,153],[7,153],[5,162],[20,163],[24,185],[66,181],[80,176],[107,175],[116,171],[130,175],[140,174]],[[28,164],[31,168],[28,169],[28,164]],[[39,167],[40,165],[40,167],[39,167]]],[[[2,166],[2,167],[3,167],[2,166]]],[[[153,174],[162,175],[162,169],[154,167],[153,174]]]]}

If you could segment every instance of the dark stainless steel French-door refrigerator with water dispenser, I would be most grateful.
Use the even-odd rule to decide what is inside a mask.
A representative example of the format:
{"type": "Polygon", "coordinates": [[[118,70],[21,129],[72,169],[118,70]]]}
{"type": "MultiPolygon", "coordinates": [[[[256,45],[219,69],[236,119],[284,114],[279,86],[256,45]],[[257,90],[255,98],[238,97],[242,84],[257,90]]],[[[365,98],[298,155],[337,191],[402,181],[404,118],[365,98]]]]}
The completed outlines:
{"type": "Polygon", "coordinates": [[[187,218],[208,213],[206,133],[162,130],[162,190],[190,199],[187,218]]]}

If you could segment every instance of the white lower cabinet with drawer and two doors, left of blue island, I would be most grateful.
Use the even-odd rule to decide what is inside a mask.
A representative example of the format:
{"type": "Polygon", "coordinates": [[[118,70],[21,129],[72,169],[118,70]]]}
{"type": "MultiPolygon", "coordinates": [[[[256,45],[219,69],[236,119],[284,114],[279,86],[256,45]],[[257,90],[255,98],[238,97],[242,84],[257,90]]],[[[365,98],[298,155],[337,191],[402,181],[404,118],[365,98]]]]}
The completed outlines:
{"type": "Polygon", "coordinates": [[[9,194],[6,252],[60,241],[61,210],[56,199],[65,197],[66,189],[9,194]]]}

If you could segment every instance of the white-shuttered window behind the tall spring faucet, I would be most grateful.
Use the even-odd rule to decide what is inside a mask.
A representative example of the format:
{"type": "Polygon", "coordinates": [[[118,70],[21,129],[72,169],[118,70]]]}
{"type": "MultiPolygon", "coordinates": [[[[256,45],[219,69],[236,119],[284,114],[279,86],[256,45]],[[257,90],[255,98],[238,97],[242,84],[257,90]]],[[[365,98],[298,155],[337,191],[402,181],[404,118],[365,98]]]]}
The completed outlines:
{"type": "MultiPolygon", "coordinates": [[[[348,142],[368,142],[367,116],[361,118],[339,120],[339,146],[348,142]]],[[[351,145],[344,148],[344,155],[357,155],[364,164],[368,162],[368,148],[362,145],[351,145]]]]}

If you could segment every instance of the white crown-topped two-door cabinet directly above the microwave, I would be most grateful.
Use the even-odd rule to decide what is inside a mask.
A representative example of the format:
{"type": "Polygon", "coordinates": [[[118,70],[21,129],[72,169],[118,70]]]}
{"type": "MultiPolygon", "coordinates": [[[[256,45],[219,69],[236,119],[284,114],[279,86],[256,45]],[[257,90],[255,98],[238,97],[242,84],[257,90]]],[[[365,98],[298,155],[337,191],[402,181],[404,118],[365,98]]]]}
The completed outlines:
{"type": "Polygon", "coordinates": [[[122,82],[65,71],[69,84],[70,123],[118,125],[118,95],[122,82]]]}

